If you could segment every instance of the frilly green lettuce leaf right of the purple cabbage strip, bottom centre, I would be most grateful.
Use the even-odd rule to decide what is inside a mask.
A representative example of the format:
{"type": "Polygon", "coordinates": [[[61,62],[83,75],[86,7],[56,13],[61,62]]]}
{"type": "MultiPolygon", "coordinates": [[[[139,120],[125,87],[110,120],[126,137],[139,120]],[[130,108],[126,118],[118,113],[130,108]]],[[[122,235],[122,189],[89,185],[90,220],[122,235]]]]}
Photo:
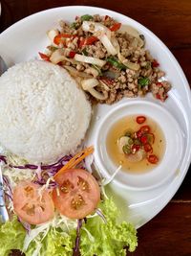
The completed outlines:
{"type": "Polygon", "coordinates": [[[87,219],[81,229],[80,252],[83,256],[116,256],[134,251],[138,245],[137,231],[131,223],[117,223],[117,206],[114,201],[105,199],[99,208],[106,217],[105,223],[100,217],[87,219]]]}

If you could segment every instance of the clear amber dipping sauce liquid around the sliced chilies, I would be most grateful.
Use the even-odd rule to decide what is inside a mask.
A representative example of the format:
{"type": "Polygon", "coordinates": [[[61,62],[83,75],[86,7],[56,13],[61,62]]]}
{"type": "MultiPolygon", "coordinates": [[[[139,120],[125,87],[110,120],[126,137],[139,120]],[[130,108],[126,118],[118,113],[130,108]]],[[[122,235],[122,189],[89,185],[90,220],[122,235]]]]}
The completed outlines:
{"type": "MultiPolygon", "coordinates": [[[[133,116],[126,116],[115,123],[112,128],[110,128],[107,138],[106,138],[106,149],[109,157],[113,160],[113,162],[117,165],[122,166],[122,171],[125,172],[137,172],[137,173],[144,173],[147,171],[153,170],[157,165],[159,165],[159,162],[162,159],[162,156],[165,151],[165,137],[164,134],[159,127],[159,124],[157,124],[153,119],[149,118],[148,116],[144,116],[145,121],[141,124],[138,124],[137,118],[138,115],[133,116]],[[124,134],[131,131],[131,134],[135,138],[133,141],[135,142],[138,130],[142,128],[143,126],[148,126],[150,128],[150,133],[154,134],[154,140],[152,141],[152,151],[146,151],[145,156],[142,160],[138,162],[130,162],[127,160],[127,154],[125,154],[123,151],[121,152],[118,147],[118,140],[124,136],[124,134]],[[157,163],[151,163],[148,161],[149,156],[155,155],[158,158],[157,163]]],[[[132,142],[131,142],[132,143],[132,142]]],[[[144,145],[141,144],[139,147],[142,147],[144,149],[144,145]]],[[[132,145],[131,145],[132,149],[132,145]]],[[[150,158],[149,158],[150,159],[150,158]]]]}

